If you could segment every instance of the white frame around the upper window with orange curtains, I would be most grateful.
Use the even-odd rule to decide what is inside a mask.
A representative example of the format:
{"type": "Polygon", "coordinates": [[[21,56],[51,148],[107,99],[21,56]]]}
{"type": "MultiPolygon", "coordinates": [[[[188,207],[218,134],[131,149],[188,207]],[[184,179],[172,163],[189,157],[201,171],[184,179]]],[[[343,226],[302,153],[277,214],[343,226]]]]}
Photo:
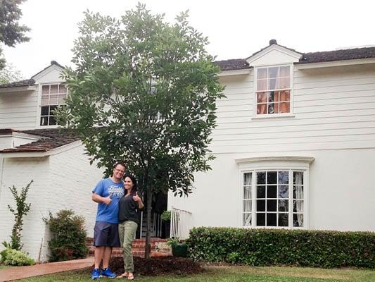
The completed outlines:
{"type": "Polygon", "coordinates": [[[288,116],[294,116],[294,95],[293,95],[293,73],[294,73],[294,66],[293,63],[283,63],[283,64],[276,64],[276,65],[262,65],[262,66],[256,66],[254,68],[254,91],[253,91],[253,97],[254,97],[254,106],[253,106],[253,118],[279,118],[279,117],[288,117],[288,116]],[[289,112],[288,113],[277,113],[277,114],[258,114],[258,69],[260,68],[281,68],[283,66],[289,67],[289,76],[290,76],[290,104],[289,104],[289,112]]]}

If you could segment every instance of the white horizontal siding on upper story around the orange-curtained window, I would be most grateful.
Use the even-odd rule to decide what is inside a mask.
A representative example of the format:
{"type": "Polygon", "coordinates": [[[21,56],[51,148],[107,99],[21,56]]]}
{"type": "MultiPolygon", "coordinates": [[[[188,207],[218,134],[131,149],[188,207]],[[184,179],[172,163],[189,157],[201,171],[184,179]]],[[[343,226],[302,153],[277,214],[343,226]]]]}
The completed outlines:
{"type": "Polygon", "coordinates": [[[222,78],[215,153],[350,149],[375,145],[375,66],[298,71],[292,117],[255,118],[253,73],[222,78]]]}

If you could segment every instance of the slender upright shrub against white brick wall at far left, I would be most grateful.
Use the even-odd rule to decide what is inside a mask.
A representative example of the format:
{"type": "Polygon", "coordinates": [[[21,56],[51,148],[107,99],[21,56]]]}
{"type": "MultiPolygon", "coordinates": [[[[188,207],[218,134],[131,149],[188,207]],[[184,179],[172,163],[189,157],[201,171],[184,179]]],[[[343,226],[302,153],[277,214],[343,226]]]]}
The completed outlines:
{"type": "Polygon", "coordinates": [[[9,190],[11,190],[11,193],[15,200],[16,208],[13,209],[13,207],[8,204],[8,209],[14,215],[15,222],[12,229],[11,243],[4,242],[4,247],[10,247],[14,250],[21,250],[23,246],[21,244],[21,231],[23,229],[23,217],[27,215],[31,207],[31,204],[26,202],[26,198],[27,192],[29,192],[29,188],[32,182],[33,180],[31,180],[30,183],[26,185],[26,187],[23,187],[19,194],[17,188],[15,188],[14,185],[12,187],[9,187],[9,190]]]}

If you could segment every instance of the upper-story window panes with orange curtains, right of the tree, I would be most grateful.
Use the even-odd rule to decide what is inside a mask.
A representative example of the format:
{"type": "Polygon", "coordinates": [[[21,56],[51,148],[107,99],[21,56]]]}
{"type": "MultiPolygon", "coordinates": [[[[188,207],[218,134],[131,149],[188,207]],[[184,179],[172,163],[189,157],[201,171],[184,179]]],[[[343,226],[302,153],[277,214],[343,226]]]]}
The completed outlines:
{"type": "Polygon", "coordinates": [[[291,67],[257,69],[257,114],[291,112],[291,67]]]}

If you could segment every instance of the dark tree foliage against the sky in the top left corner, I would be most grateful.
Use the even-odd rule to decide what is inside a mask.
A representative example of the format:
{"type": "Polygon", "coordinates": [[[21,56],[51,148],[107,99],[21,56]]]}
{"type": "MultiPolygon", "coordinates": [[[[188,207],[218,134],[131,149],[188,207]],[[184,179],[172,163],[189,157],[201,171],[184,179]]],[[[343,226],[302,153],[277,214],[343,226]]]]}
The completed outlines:
{"type": "MultiPolygon", "coordinates": [[[[25,32],[30,31],[26,25],[20,25],[18,20],[22,16],[21,9],[18,7],[25,0],[1,0],[0,1],[0,42],[6,46],[14,47],[20,42],[27,42],[29,37],[25,32]]],[[[0,48],[0,55],[2,50],[0,48]]],[[[5,59],[0,59],[0,69],[4,68],[5,59]]]]}

